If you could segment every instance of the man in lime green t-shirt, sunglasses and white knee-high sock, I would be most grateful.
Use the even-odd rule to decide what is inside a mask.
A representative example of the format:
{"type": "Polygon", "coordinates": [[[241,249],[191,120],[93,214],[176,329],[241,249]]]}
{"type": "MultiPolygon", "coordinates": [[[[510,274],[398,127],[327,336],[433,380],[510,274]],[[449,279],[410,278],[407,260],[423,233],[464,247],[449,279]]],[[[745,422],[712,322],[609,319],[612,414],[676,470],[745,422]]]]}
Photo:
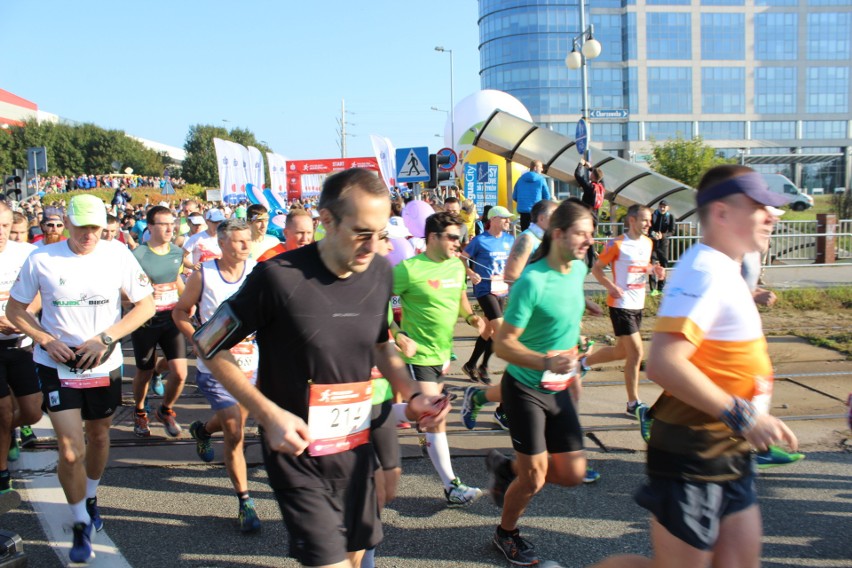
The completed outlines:
{"type": "MultiPolygon", "coordinates": [[[[404,260],[393,271],[393,293],[402,301],[402,331],[417,344],[413,357],[403,356],[424,394],[440,395],[450,365],[453,331],[460,317],[481,334],[485,322],[467,300],[464,265],[458,260],[462,221],[452,213],[426,218],[426,251],[404,260]]],[[[446,425],[426,430],[426,451],[444,484],[448,507],[469,505],[482,495],[453,473],[446,425]]]]}

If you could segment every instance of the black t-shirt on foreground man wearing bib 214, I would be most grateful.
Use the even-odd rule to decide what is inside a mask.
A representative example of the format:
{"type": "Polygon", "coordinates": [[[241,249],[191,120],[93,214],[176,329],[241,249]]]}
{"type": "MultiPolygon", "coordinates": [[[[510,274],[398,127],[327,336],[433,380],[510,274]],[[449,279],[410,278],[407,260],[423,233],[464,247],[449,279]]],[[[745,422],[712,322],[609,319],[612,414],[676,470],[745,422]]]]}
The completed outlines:
{"type": "MultiPolygon", "coordinates": [[[[376,343],[388,340],[390,264],[376,257],[362,273],[338,278],[322,263],[316,243],[258,264],[228,303],[241,321],[225,347],[257,332],[257,387],[307,422],[309,381],[370,379],[376,343]]],[[[372,456],[364,444],[322,457],[275,454],[267,459],[274,488],[323,487],[345,480],[356,460],[372,456]]]]}

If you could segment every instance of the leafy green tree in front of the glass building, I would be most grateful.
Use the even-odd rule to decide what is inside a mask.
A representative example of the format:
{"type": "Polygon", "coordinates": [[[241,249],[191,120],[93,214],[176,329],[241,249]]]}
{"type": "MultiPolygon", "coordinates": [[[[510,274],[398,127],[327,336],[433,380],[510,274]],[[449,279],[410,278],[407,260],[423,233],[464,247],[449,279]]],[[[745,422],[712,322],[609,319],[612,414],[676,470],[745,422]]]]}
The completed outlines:
{"type": "Polygon", "coordinates": [[[718,155],[700,136],[691,140],[678,136],[662,144],[652,139],[651,148],[651,168],[690,187],[697,186],[704,172],[713,166],[735,161],[718,155]]]}

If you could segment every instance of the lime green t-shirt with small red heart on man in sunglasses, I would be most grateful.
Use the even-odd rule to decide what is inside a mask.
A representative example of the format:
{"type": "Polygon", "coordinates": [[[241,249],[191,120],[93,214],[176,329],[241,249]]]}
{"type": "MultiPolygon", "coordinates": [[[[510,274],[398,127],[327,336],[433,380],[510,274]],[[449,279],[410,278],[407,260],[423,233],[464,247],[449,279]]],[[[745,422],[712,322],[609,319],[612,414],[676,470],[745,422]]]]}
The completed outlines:
{"type": "Polygon", "coordinates": [[[403,357],[407,363],[433,366],[450,360],[464,276],[458,258],[435,262],[426,253],[394,267],[393,293],[402,301],[402,329],[417,342],[414,357],[403,357]]]}

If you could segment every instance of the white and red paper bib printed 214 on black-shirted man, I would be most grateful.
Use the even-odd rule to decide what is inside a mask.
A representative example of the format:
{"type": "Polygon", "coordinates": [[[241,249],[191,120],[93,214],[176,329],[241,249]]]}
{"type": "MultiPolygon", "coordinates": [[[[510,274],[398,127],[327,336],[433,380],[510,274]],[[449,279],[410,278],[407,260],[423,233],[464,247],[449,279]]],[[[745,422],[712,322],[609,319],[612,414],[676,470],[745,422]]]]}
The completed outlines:
{"type": "Polygon", "coordinates": [[[308,429],[312,456],[339,454],[370,439],[373,383],[311,385],[308,429]]]}

